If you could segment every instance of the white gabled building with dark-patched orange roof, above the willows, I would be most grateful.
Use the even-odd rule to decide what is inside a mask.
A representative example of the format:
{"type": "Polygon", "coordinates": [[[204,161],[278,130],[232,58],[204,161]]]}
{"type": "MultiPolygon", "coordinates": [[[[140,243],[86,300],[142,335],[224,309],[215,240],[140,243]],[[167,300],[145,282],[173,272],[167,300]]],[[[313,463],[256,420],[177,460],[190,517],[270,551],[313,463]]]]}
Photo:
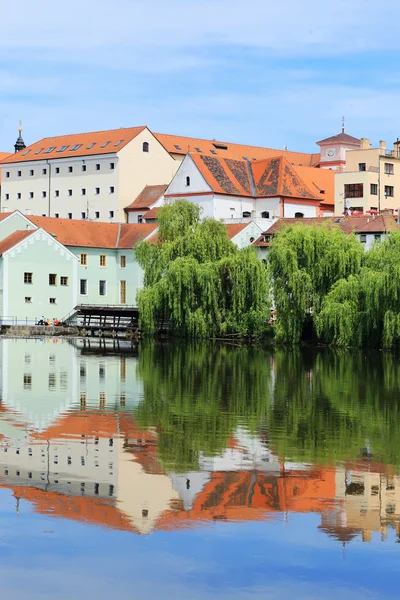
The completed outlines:
{"type": "Polygon", "coordinates": [[[166,202],[185,198],[204,217],[253,220],[333,214],[334,173],[291,165],[285,157],[250,162],[189,153],[164,192],[166,202]]]}

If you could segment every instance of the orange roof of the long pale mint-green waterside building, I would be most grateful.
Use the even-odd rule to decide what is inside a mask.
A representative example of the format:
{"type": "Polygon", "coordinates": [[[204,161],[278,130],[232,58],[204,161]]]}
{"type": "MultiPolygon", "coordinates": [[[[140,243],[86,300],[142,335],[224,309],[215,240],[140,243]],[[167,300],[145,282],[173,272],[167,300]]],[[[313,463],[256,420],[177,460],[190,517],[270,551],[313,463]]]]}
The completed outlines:
{"type": "Polygon", "coordinates": [[[101,223],[35,216],[29,216],[29,220],[64,246],[86,248],[133,248],[157,227],[154,223],[101,223]]]}

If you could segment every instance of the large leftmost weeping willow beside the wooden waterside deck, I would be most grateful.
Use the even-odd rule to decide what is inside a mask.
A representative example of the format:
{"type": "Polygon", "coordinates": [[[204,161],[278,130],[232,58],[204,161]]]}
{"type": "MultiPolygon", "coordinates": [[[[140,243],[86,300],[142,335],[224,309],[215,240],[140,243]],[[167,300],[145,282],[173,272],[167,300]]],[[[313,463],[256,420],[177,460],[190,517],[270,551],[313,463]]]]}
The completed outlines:
{"type": "Polygon", "coordinates": [[[200,220],[198,206],[179,200],[159,214],[157,242],[142,242],[140,323],[152,334],[164,323],[177,336],[261,335],[269,316],[267,272],[254,248],[239,250],[226,227],[200,220]]]}

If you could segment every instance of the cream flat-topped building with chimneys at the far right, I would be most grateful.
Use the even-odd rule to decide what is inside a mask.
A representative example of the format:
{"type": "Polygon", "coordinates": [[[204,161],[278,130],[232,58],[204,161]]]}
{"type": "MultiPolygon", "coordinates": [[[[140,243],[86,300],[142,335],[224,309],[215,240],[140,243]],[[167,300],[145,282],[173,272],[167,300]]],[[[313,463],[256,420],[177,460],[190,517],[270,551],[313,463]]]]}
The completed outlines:
{"type": "Polygon", "coordinates": [[[335,175],[335,215],[346,209],[366,212],[394,210],[400,206],[400,146],[388,150],[386,142],[371,148],[361,139],[361,148],[346,152],[346,171],[335,175]]]}

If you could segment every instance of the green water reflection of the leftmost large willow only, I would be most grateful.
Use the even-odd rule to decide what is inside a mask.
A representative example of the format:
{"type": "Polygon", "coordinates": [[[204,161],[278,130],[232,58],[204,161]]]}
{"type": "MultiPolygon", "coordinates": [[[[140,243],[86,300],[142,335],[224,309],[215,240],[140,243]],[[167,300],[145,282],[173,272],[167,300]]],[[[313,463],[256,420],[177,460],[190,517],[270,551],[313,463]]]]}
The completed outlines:
{"type": "Polygon", "coordinates": [[[270,368],[260,348],[146,344],[139,354],[144,399],[135,418],[155,426],[164,465],[198,467],[222,452],[242,422],[254,430],[268,404],[270,368]]]}

